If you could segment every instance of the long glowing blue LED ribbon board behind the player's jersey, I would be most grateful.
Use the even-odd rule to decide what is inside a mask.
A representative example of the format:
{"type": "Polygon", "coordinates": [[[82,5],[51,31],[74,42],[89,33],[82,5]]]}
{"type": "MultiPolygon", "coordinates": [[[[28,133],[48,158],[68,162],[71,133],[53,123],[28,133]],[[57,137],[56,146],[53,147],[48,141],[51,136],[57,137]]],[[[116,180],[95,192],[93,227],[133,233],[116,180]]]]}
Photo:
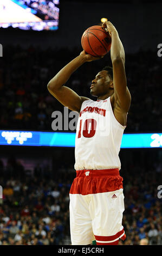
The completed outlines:
{"type": "MultiPolygon", "coordinates": [[[[75,132],[0,130],[0,145],[75,147],[75,132]]],[[[162,133],[124,133],[121,148],[162,148],[162,133]]]]}

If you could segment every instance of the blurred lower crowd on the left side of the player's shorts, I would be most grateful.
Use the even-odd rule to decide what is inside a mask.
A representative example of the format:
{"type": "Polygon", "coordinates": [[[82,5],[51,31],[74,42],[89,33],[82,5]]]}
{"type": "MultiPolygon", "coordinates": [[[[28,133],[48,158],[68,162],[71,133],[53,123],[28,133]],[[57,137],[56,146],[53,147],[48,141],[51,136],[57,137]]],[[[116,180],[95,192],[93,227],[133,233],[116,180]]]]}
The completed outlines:
{"type": "Polygon", "coordinates": [[[70,244],[68,171],[56,178],[38,166],[32,175],[18,166],[1,161],[0,245],[70,244]]]}

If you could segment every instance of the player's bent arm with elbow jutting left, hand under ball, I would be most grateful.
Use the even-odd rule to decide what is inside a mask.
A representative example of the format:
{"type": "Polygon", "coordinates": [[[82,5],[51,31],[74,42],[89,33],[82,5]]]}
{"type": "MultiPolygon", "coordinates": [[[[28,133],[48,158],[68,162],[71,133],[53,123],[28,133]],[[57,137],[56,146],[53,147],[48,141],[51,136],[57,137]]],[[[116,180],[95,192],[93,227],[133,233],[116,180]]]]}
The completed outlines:
{"type": "Polygon", "coordinates": [[[73,111],[80,112],[82,102],[88,100],[87,97],[77,95],[72,89],[64,86],[73,72],[78,69],[83,63],[91,62],[100,58],[93,57],[82,51],[79,56],[69,62],[61,69],[48,83],[48,90],[62,105],[73,111]]]}

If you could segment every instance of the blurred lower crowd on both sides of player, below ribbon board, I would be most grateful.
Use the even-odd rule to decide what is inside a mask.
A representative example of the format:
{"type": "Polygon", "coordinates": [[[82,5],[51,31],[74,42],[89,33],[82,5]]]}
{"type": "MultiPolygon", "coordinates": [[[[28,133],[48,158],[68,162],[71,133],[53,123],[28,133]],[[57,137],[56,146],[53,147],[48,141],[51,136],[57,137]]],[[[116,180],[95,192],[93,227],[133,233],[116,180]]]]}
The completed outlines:
{"type": "MultiPolygon", "coordinates": [[[[20,163],[0,161],[0,245],[70,245],[69,189],[75,172],[66,168],[39,175],[17,173],[20,163]],[[12,166],[12,172],[8,172],[12,166]],[[7,172],[7,175],[5,175],[7,172]]],[[[138,163],[120,170],[124,178],[123,225],[127,239],[119,245],[162,245],[162,199],[157,187],[162,166],[138,163]]]]}

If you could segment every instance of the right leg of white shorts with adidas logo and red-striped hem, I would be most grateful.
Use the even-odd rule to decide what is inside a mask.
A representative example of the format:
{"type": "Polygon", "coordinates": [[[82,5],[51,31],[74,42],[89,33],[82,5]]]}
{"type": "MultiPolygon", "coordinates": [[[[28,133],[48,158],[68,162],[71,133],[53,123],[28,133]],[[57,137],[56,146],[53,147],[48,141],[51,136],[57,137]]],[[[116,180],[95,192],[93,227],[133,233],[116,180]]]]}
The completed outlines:
{"type": "Polygon", "coordinates": [[[118,245],[119,238],[126,238],[122,227],[124,194],[116,191],[96,193],[90,201],[93,233],[97,245],[118,245]]]}

